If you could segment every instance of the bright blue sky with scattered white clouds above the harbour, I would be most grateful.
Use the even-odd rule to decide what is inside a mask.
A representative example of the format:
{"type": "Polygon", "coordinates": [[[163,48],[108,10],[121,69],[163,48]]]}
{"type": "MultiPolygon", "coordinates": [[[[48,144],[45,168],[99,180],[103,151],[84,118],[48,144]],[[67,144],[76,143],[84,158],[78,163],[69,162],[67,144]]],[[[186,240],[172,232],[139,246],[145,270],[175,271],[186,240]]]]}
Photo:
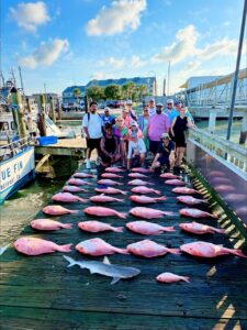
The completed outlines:
{"type": "MultiPolygon", "coordinates": [[[[90,79],[156,76],[161,92],[235,69],[244,0],[1,1],[1,69],[26,94],[90,79]],[[18,76],[19,78],[19,76],[18,76]]],[[[246,67],[245,56],[242,67],[246,67]]]]}

